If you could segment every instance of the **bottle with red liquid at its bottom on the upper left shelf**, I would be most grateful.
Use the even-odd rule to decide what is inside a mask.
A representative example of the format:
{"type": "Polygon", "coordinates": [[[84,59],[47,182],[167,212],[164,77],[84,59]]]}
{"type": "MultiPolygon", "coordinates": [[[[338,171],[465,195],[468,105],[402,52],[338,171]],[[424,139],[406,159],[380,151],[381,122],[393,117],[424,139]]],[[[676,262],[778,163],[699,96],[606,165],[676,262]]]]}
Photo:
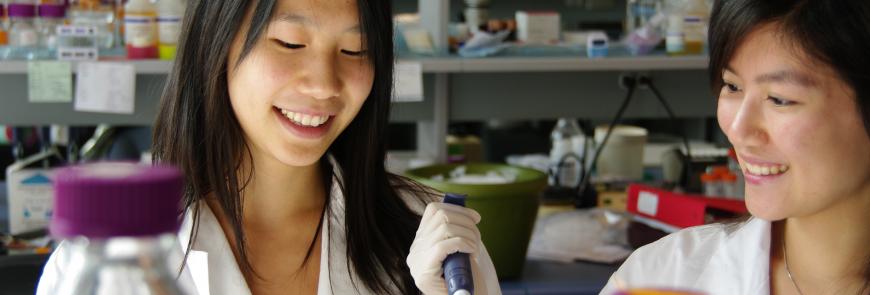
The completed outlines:
{"type": "Polygon", "coordinates": [[[157,58],[157,7],[149,0],[124,5],[124,44],[127,58],[157,58]]]}

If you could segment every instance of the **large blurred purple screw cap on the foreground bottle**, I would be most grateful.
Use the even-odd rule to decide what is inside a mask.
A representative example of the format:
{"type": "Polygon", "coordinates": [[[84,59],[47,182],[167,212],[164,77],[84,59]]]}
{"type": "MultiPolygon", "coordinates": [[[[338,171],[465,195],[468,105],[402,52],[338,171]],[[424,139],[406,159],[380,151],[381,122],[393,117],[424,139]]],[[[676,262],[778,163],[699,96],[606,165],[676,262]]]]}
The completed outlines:
{"type": "Polygon", "coordinates": [[[59,238],[155,236],[178,231],[183,177],[175,168],[104,162],[61,168],[51,234],[59,238]]]}

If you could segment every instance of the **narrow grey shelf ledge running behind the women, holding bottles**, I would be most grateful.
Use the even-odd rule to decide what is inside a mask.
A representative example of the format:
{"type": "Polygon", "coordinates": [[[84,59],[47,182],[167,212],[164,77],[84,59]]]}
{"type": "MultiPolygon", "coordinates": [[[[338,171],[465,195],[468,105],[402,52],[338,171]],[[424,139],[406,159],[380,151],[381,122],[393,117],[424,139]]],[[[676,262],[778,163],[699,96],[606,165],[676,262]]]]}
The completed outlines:
{"type": "MultiPolygon", "coordinates": [[[[107,60],[112,62],[115,60],[107,60]]],[[[424,73],[484,73],[484,72],[565,72],[565,71],[654,71],[692,70],[707,68],[706,56],[670,57],[617,56],[587,58],[583,56],[497,56],[483,58],[462,57],[403,57],[399,62],[419,62],[424,73]]],[[[126,61],[133,64],[138,74],[166,74],[171,61],[126,61]]],[[[75,64],[75,62],[74,62],[75,64]]],[[[73,66],[73,72],[76,67],[73,66]]],[[[26,74],[27,61],[0,61],[0,74],[26,74]]]]}

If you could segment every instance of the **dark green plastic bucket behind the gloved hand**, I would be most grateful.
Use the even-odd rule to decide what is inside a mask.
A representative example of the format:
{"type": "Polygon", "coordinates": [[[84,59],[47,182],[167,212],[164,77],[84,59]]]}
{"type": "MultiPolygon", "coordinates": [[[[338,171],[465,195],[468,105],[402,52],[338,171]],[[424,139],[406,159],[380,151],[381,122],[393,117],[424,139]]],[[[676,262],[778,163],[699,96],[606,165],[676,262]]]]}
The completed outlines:
{"type": "Polygon", "coordinates": [[[546,174],[533,169],[484,163],[434,165],[408,170],[405,174],[441,192],[468,195],[466,206],[477,210],[483,217],[478,228],[499,279],[520,277],[535,227],[539,196],[547,186],[546,174]],[[506,184],[458,184],[432,180],[432,176],[439,174],[447,179],[450,171],[459,166],[465,166],[467,174],[511,170],[517,178],[515,182],[506,184]]]}

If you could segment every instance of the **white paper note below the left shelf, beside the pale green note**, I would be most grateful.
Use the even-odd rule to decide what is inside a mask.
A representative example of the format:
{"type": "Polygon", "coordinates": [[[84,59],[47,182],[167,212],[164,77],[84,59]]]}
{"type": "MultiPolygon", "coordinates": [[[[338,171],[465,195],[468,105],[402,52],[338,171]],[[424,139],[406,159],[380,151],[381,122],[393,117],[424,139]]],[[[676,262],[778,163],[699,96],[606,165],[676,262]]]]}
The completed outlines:
{"type": "Polygon", "coordinates": [[[81,62],[76,75],[74,109],[80,112],[133,114],[136,68],[117,62],[81,62]]]}

